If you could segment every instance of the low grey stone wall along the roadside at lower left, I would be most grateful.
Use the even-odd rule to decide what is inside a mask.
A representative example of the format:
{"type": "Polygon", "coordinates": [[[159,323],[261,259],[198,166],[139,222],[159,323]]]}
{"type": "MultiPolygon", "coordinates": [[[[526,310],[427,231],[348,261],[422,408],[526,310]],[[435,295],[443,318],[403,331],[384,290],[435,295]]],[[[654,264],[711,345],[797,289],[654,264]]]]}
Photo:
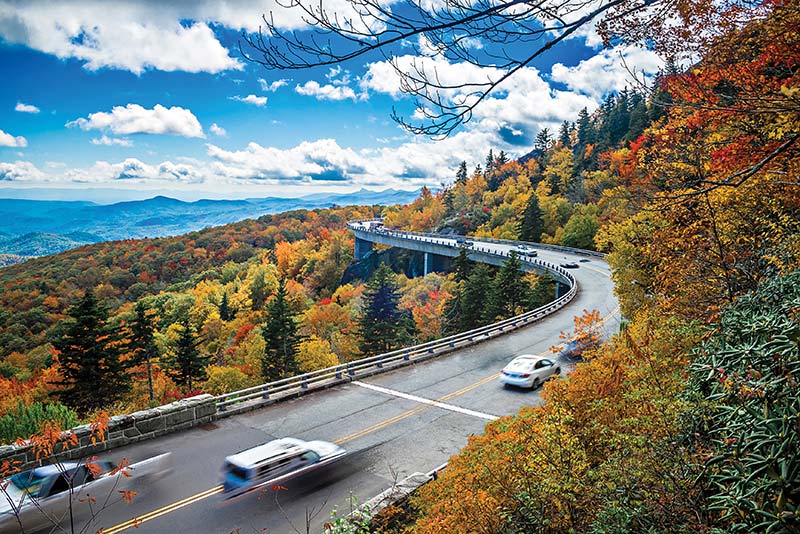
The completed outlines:
{"type": "MultiPolygon", "coordinates": [[[[70,432],[78,438],[78,445],[59,454],[58,459],[86,458],[105,450],[210,423],[216,416],[215,402],[213,395],[197,395],[149,410],[112,417],[105,440],[96,444],[92,444],[89,425],[75,427],[70,432]]],[[[0,464],[5,460],[11,460],[22,470],[52,463],[49,457],[37,460],[30,445],[0,446],[0,464]]]]}

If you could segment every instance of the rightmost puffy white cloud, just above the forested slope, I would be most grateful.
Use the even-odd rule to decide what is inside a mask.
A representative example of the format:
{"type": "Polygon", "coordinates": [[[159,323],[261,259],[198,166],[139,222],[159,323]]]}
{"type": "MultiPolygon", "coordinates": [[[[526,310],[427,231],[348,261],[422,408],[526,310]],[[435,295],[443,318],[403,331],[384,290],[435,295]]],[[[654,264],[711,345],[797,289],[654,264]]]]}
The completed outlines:
{"type": "Polygon", "coordinates": [[[583,60],[574,67],[561,63],[553,65],[550,75],[554,81],[561,82],[572,91],[600,99],[613,91],[637,84],[642,76],[649,82],[652,76],[664,66],[655,52],[633,46],[602,50],[597,55],[583,60]]]}

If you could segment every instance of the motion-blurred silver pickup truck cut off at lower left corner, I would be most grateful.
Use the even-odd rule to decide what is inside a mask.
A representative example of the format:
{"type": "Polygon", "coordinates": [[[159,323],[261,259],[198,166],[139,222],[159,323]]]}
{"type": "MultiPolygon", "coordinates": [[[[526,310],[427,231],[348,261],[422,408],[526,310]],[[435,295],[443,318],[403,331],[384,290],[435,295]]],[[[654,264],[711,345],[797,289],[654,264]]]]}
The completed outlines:
{"type": "Polygon", "coordinates": [[[59,525],[69,523],[70,500],[76,521],[92,521],[105,504],[122,500],[121,490],[130,489],[134,483],[152,482],[172,470],[170,453],[131,464],[125,474],[116,470],[112,462],[93,463],[99,468],[96,472],[87,469],[85,463],[73,461],[37,467],[0,480],[0,534],[17,534],[21,529],[60,532],[59,525]]]}

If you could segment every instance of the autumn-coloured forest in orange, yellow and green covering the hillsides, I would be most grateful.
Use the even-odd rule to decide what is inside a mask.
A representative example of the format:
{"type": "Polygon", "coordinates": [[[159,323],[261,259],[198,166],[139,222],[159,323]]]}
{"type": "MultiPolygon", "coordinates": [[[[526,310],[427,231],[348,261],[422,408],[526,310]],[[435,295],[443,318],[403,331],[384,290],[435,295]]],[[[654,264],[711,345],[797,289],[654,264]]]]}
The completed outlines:
{"type": "Polygon", "coordinates": [[[346,221],[383,217],[606,252],[626,323],[548,383],[543,405],[470,438],[382,530],[797,531],[800,13],[730,9],[691,67],[542,130],[524,158],[476,154],[409,205],[287,212],[0,269],[3,438],[324,368],[552,295],[546,278],[463,257],[425,277],[391,250],[354,268],[346,221]],[[485,308],[470,308],[476,292],[485,308]]]}

